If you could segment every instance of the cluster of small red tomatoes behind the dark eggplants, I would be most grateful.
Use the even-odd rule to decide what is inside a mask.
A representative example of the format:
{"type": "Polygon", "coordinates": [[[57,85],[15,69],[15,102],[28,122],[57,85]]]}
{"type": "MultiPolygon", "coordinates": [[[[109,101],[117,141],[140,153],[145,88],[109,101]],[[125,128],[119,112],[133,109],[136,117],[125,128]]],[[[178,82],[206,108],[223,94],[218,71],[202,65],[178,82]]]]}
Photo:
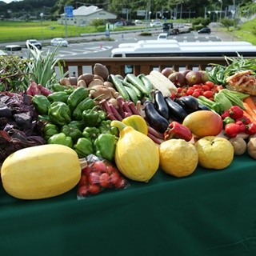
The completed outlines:
{"type": "Polygon", "coordinates": [[[173,94],[172,98],[192,95],[195,98],[203,95],[210,100],[214,100],[214,94],[222,90],[223,86],[215,85],[214,82],[207,81],[203,84],[195,84],[194,86],[178,87],[178,94],[173,94]]]}

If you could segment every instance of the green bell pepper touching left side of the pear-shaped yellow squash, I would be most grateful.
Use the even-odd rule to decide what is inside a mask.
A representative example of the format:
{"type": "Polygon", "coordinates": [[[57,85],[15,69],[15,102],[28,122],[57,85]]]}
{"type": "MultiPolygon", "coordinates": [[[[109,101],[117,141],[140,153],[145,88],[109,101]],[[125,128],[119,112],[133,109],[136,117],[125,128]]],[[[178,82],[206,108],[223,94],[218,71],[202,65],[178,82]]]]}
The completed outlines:
{"type": "Polygon", "coordinates": [[[102,157],[106,160],[114,160],[114,152],[117,140],[112,134],[100,134],[94,141],[94,148],[96,156],[102,157]]]}

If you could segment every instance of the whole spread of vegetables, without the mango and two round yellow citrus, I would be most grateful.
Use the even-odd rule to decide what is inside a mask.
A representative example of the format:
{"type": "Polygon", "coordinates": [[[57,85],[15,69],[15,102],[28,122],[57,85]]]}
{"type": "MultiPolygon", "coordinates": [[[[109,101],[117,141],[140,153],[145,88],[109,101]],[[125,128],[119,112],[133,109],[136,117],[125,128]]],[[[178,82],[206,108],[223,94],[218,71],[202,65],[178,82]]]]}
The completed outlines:
{"type": "MultiPolygon", "coordinates": [[[[174,138],[190,142],[193,134],[182,122],[200,110],[222,116],[223,136],[230,139],[234,148],[237,143],[243,146],[234,150],[235,154],[248,150],[256,158],[255,103],[251,94],[238,90],[238,84],[230,90],[237,67],[253,70],[253,62],[241,57],[240,62],[238,58],[227,58],[233,62],[226,73],[222,66],[214,66],[204,72],[165,69],[125,77],[110,74],[106,66],[95,63],[93,74],[78,78],[63,74],[57,81],[52,71],[58,62],[54,54],[44,57],[36,49],[31,54],[34,61],[22,62],[22,68],[9,63],[3,67],[1,77],[2,183],[17,198],[47,198],[65,193],[77,184],[78,198],[84,198],[108,188],[124,189],[128,185],[126,178],[149,182],[159,167],[158,146],[174,138]],[[9,73],[14,68],[21,86],[16,86],[18,83],[9,73]],[[40,156],[37,160],[35,154],[40,156]],[[65,159],[61,160],[63,155],[65,159]],[[59,159],[58,166],[54,157],[59,159]],[[40,166],[42,158],[46,168],[43,177],[38,177],[34,166],[40,166]],[[27,161],[33,168],[21,178],[18,164],[25,168],[27,161]],[[69,164],[71,173],[66,171],[62,173],[65,177],[60,178],[69,164]],[[50,174],[50,166],[56,170],[54,174],[50,174]],[[51,183],[47,182],[50,175],[51,183]],[[29,176],[30,183],[26,181],[29,176]],[[36,191],[40,182],[46,183],[41,192],[36,191]],[[18,184],[17,190],[14,184],[18,184]],[[47,194],[48,190],[52,193],[47,194]]],[[[243,73],[246,74],[254,72],[243,73]]]]}

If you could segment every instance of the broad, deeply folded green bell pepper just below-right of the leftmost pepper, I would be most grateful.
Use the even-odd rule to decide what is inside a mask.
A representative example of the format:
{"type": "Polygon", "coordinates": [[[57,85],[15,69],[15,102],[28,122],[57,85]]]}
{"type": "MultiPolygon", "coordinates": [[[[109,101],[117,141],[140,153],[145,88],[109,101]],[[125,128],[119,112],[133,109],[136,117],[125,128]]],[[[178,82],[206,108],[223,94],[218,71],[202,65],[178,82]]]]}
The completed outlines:
{"type": "Polygon", "coordinates": [[[71,122],[70,108],[64,102],[53,102],[48,110],[50,121],[58,126],[65,126],[71,122]]]}

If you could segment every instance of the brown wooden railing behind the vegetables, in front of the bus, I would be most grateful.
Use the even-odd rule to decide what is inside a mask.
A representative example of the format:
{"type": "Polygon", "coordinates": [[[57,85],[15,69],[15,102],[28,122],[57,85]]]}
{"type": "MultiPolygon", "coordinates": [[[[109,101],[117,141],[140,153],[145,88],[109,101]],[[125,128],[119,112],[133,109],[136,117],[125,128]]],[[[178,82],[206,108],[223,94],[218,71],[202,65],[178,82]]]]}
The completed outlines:
{"type": "Polygon", "coordinates": [[[105,65],[111,74],[126,74],[125,66],[133,66],[133,73],[149,74],[151,70],[163,70],[170,67],[179,71],[184,69],[206,70],[211,64],[226,65],[224,57],[162,57],[162,58],[64,58],[63,71],[66,76],[92,73],[95,63],[105,65]]]}

